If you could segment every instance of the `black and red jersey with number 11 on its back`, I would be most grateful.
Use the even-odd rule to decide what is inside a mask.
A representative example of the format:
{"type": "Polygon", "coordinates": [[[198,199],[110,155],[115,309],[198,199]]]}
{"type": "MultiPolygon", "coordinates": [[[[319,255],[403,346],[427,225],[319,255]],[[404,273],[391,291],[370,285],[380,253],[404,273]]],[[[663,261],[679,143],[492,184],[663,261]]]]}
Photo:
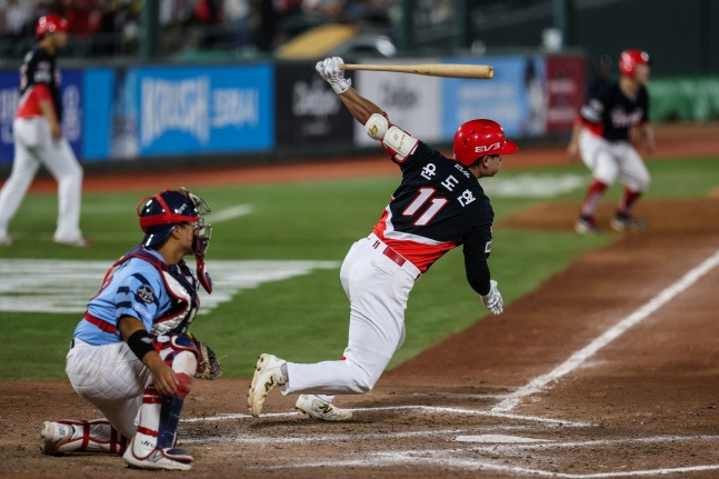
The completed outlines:
{"type": "MultiPolygon", "coordinates": [[[[402,182],[375,234],[420,271],[459,245],[465,246],[468,268],[477,263],[486,268],[495,212],[477,178],[422,142],[403,162],[395,161],[402,170],[402,182]]],[[[486,289],[489,278],[481,282],[486,285],[480,289],[486,289]]]]}

